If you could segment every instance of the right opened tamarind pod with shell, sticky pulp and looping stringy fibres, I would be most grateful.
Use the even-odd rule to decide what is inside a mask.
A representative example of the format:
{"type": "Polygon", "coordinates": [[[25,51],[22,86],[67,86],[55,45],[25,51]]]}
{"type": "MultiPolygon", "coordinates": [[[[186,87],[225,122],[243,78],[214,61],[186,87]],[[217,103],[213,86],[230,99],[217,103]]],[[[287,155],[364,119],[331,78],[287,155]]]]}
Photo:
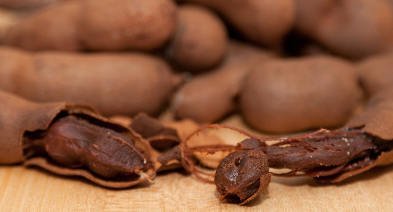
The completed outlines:
{"type": "MultiPolygon", "coordinates": [[[[292,137],[260,137],[225,125],[208,125],[181,143],[183,166],[196,177],[210,181],[192,160],[195,153],[226,152],[216,167],[215,183],[220,199],[245,204],[265,189],[271,179],[267,167],[285,169],[279,176],[308,176],[324,182],[339,182],[376,166],[393,164],[393,89],[375,94],[364,110],[336,130],[320,129],[292,137]],[[203,130],[228,128],[249,138],[237,145],[188,146],[203,130]],[[255,169],[258,167],[258,169],[255,169]],[[255,171],[257,170],[257,171],[255,171]]],[[[202,140],[206,140],[202,138],[202,140]]]]}

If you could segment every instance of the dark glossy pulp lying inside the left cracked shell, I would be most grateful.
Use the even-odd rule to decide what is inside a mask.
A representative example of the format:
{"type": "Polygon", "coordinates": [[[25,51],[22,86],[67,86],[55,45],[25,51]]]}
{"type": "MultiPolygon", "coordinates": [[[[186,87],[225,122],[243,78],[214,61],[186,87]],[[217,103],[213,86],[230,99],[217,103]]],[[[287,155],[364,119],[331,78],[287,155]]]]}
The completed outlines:
{"type": "Polygon", "coordinates": [[[32,144],[31,154],[34,148],[42,148],[63,166],[86,167],[104,178],[137,176],[152,166],[150,157],[139,151],[135,141],[77,116],[60,117],[43,134],[28,135],[25,143],[32,144]]]}

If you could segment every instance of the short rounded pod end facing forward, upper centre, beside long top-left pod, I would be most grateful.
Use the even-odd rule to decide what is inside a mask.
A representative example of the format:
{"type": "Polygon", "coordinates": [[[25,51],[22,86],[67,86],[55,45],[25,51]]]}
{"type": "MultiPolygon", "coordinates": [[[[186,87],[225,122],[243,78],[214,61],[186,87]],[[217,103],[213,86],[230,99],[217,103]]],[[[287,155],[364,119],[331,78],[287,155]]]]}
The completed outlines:
{"type": "Polygon", "coordinates": [[[205,7],[186,4],[179,6],[176,32],[166,46],[165,56],[178,69],[196,72],[217,65],[227,45],[224,22],[205,7]]]}

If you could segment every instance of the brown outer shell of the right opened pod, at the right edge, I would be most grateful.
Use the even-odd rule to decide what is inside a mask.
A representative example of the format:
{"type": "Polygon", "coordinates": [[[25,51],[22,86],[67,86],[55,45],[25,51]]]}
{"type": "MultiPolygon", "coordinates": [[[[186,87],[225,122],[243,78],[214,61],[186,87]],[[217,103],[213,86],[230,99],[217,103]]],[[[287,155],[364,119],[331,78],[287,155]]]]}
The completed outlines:
{"type": "MultiPolygon", "coordinates": [[[[321,181],[339,182],[356,174],[360,174],[377,166],[386,166],[393,164],[393,89],[386,88],[375,93],[367,100],[363,111],[353,116],[341,130],[359,129],[368,139],[371,139],[375,147],[372,151],[361,151],[366,147],[362,142],[355,139],[352,143],[345,138],[341,138],[349,147],[354,146],[354,150],[348,150],[350,154],[355,154],[355,160],[342,164],[339,171],[325,173],[328,176],[320,177],[321,181]],[[348,141],[348,142],[347,142],[348,141]]],[[[360,135],[360,134],[359,134],[360,135]]],[[[361,135],[360,135],[361,136],[361,135]]],[[[325,144],[325,143],[324,143],[325,144]]],[[[363,143],[365,144],[365,143],[363,143]]],[[[283,145],[285,145],[283,143],[283,145]]],[[[345,145],[344,145],[345,146],[345,145]]],[[[370,146],[371,147],[371,146],[370,146]]],[[[314,160],[309,158],[310,161],[314,160]]],[[[331,157],[337,158],[337,157],[331,157]]],[[[333,159],[332,159],[333,160],[333,159]]],[[[317,162],[315,161],[315,164],[317,162]]],[[[326,171],[326,170],[325,170],[326,171]]],[[[317,172],[310,172],[314,176],[317,172]]],[[[316,175],[315,175],[316,176],[316,175]]]]}

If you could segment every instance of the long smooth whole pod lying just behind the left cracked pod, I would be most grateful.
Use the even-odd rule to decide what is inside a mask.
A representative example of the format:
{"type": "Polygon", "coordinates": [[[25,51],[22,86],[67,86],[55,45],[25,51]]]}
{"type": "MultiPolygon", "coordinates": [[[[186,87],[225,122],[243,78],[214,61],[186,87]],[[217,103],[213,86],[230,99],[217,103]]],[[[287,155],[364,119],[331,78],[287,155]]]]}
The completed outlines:
{"type": "Polygon", "coordinates": [[[35,101],[78,101],[106,116],[158,113],[179,78],[167,63],[137,53],[31,53],[0,48],[0,89],[35,101]]]}

